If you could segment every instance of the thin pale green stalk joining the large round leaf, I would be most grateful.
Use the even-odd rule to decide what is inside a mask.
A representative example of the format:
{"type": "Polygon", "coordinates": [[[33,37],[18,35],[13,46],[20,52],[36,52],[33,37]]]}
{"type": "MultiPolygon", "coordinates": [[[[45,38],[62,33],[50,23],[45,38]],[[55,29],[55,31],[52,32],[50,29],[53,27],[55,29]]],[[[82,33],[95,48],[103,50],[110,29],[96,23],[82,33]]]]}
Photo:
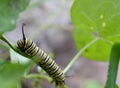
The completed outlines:
{"type": "Polygon", "coordinates": [[[75,61],[79,58],[79,56],[88,48],[90,47],[93,43],[95,43],[98,40],[98,38],[95,38],[94,40],[92,40],[91,42],[89,42],[86,46],[84,46],[74,57],[73,59],[70,61],[70,63],[67,65],[67,67],[64,69],[64,73],[66,73],[75,63],[75,61]]]}

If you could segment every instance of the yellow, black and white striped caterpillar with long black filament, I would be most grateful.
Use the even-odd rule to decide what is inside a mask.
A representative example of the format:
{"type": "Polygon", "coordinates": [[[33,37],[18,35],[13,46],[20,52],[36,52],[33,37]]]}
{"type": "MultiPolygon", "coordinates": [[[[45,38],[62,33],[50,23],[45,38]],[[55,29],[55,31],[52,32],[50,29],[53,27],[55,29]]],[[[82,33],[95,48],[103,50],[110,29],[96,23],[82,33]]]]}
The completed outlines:
{"type": "Polygon", "coordinates": [[[25,24],[22,24],[23,38],[17,41],[18,48],[31,57],[38,56],[37,60],[35,60],[36,63],[55,80],[56,85],[65,83],[65,75],[56,62],[43,50],[39,49],[31,39],[25,37],[23,29],[24,25],[25,24]]]}

